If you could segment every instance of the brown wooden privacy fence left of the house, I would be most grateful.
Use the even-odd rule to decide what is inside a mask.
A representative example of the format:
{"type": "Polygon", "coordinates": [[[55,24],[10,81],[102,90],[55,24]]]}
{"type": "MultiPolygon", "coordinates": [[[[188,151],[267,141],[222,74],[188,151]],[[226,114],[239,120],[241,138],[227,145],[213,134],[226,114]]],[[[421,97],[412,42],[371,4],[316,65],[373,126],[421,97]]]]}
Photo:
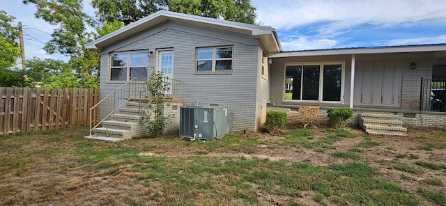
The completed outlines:
{"type": "Polygon", "coordinates": [[[8,134],[89,125],[99,89],[0,88],[0,97],[0,134],[8,134]]]}

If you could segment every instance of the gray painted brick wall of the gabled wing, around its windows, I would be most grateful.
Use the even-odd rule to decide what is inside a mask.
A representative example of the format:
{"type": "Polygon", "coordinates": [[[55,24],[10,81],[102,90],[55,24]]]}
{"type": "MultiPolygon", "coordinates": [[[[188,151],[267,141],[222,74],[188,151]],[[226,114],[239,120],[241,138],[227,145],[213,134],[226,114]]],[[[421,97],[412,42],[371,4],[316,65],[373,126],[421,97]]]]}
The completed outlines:
{"type": "MultiPolygon", "coordinates": [[[[180,99],[183,105],[200,106],[219,104],[228,107],[233,113],[233,131],[244,129],[255,130],[257,121],[257,81],[259,70],[259,42],[252,37],[240,35],[224,35],[224,38],[211,36],[217,31],[207,31],[187,25],[165,24],[161,29],[153,29],[136,34],[128,44],[117,42],[113,49],[105,48],[101,56],[100,95],[105,97],[114,88],[122,84],[108,81],[109,53],[114,51],[132,51],[150,49],[153,56],[149,58],[148,67],[155,68],[156,49],[170,48],[174,50],[174,79],[183,81],[180,99]],[[153,32],[157,31],[157,32],[153,32]],[[207,35],[206,35],[207,33],[207,35]],[[227,39],[234,39],[230,41],[227,39]],[[241,43],[246,42],[246,43],[241,43]],[[256,42],[256,44],[253,44],[256,42]],[[233,47],[233,69],[230,74],[200,74],[195,72],[195,52],[197,47],[233,47]]],[[[222,35],[222,34],[220,34],[222,35]]],[[[151,71],[149,71],[149,74],[151,71]]],[[[263,103],[262,103],[263,104],[263,103]]],[[[266,103],[265,103],[266,105],[266,103]]],[[[266,111],[266,108],[263,108],[266,111]]],[[[176,117],[179,118],[179,117],[176,117]]]]}

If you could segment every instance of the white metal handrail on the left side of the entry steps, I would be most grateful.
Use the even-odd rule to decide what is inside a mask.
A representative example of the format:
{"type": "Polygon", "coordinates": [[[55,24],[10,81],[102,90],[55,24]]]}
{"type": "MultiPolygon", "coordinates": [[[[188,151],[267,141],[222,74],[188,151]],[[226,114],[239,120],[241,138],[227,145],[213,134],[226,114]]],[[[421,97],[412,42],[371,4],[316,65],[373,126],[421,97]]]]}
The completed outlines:
{"type": "Polygon", "coordinates": [[[93,132],[93,129],[97,128],[102,122],[104,122],[109,116],[111,116],[112,113],[115,113],[116,109],[118,109],[120,106],[122,106],[123,104],[128,102],[132,95],[133,95],[134,98],[137,97],[136,96],[137,95],[137,81],[138,81],[137,77],[134,77],[133,79],[130,79],[129,81],[125,82],[125,84],[123,84],[123,85],[119,86],[118,88],[114,89],[112,93],[110,93],[109,95],[104,97],[104,99],[100,100],[98,102],[98,104],[95,104],[94,106],[92,106],[90,108],[90,124],[89,124],[90,125],[90,136],[91,136],[91,134],[93,132]],[[128,89],[127,90],[127,98],[126,98],[126,100],[123,103],[121,103],[119,105],[116,105],[116,93],[121,92],[121,90],[123,90],[123,88],[125,88],[125,86],[127,86],[126,88],[128,89]],[[132,93],[132,86],[134,88],[134,90],[133,90],[134,92],[133,93],[132,93]],[[112,97],[114,97],[114,101],[113,101],[114,102],[114,104],[113,104],[114,107],[113,107],[112,111],[110,111],[104,118],[102,118],[102,120],[100,120],[99,122],[95,123],[95,125],[93,126],[93,120],[92,120],[93,109],[98,109],[98,106],[100,104],[102,104],[102,102],[105,102],[106,100],[108,101],[112,97]]]}

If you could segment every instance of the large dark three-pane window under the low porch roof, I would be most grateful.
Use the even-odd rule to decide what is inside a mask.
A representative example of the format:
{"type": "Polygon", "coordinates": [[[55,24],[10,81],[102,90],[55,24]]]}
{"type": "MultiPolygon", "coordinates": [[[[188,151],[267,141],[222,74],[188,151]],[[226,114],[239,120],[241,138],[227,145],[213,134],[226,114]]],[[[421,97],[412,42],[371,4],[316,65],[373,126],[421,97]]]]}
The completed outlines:
{"type": "Polygon", "coordinates": [[[343,63],[285,66],[285,100],[340,102],[343,63]]]}

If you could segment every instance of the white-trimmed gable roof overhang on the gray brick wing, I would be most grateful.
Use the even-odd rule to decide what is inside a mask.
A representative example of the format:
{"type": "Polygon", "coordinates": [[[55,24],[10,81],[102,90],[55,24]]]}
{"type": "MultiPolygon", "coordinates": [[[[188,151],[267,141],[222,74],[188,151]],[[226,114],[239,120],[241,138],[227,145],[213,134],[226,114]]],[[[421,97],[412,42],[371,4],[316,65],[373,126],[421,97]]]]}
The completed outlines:
{"type": "Polygon", "coordinates": [[[167,21],[183,22],[208,27],[210,29],[222,29],[224,31],[252,35],[261,42],[263,47],[265,47],[267,50],[266,52],[282,52],[282,46],[280,45],[279,38],[274,28],[240,22],[231,22],[222,19],[213,19],[209,17],[199,17],[196,15],[187,15],[183,13],[174,13],[166,10],[160,10],[153,15],[148,15],[147,17],[139,19],[137,22],[124,26],[121,29],[93,40],[92,42],[86,44],[85,48],[101,51],[104,47],[124,40],[125,38],[129,38],[135,33],[139,33],[167,21]]]}

